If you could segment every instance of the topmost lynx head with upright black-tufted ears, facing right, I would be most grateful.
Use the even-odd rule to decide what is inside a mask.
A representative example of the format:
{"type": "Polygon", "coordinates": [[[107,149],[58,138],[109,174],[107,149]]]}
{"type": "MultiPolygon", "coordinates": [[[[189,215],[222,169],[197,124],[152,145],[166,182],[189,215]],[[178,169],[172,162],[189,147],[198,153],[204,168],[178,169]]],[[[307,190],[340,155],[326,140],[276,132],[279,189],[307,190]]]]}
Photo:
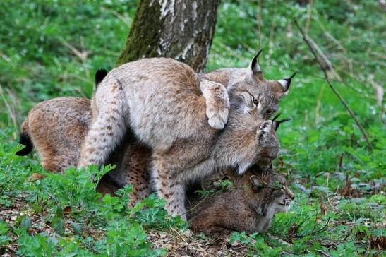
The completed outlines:
{"type": "Polygon", "coordinates": [[[289,78],[266,80],[258,64],[261,52],[253,57],[246,72],[229,82],[228,94],[232,108],[252,114],[256,119],[268,119],[277,111],[278,102],[289,90],[296,73],[289,78]]]}

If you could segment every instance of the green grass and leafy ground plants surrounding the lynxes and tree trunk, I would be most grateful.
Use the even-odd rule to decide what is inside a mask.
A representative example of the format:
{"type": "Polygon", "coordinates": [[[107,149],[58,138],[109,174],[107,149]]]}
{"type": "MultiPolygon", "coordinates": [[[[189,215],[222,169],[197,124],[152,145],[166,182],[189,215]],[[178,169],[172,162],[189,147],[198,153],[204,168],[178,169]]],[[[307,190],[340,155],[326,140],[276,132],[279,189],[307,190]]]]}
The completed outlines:
{"type": "Polygon", "coordinates": [[[184,234],[186,223],[167,216],[154,196],[126,208],[130,187],[99,200],[87,178],[109,167],[47,174],[36,155],[13,155],[18,125],[34,104],[90,97],[95,71],[113,67],[119,56],[136,1],[1,1],[0,253],[157,256],[169,249],[192,255],[212,244],[215,250],[204,251],[213,255],[382,255],[386,130],[376,92],[386,80],[385,7],[378,1],[260,3],[222,1],[207,71],[246,66],[260,45],[266,78],[299,72],[280,103],[282,116],[292,120],[278,131],[282,154],[275,161],[296,201],[276,215],[270,235],[234,233],[219,244],[184,234]],[[368,131],[372,152],[325,83],[294,18],[339,74],[334,85],[368,131]],[[28,179],[34,172],[47,178],[28,179]]]}

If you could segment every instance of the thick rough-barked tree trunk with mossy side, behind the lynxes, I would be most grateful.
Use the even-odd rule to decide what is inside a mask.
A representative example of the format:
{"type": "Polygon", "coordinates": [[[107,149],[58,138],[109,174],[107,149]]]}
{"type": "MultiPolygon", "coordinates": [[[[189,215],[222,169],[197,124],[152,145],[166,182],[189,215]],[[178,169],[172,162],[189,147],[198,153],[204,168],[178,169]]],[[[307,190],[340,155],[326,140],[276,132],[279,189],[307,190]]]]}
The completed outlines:
{"type": "Polygon", "coordinates": [[[169,57],[203,71],[220,0],[141,0],[117,65],[169,57]]]}

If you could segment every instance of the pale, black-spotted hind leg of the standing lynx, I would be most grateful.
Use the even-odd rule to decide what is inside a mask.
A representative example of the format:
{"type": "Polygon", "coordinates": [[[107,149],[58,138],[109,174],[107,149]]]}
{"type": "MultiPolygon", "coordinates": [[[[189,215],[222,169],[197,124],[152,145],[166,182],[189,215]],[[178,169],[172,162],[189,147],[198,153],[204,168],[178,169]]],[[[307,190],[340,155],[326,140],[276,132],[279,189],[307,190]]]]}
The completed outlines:
{"type": "MultiPolygon", "coordinates": [[[[95,95],[98,113],[80,152],[78,167],[102,165],[123,140],[126,132],[126,99],[118,80],[109,78],[102,81],[95,95]]],[[[94,115],[94,114],[93,114],[94,115]]]]}

